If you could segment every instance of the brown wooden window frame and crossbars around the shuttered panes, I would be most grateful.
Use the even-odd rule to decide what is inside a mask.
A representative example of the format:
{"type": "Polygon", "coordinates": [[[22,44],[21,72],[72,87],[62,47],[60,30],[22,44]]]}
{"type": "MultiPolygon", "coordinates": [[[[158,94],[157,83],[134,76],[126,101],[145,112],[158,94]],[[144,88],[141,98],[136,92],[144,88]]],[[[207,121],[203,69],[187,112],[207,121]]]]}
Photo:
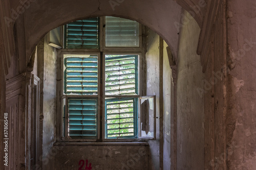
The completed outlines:
{"type": "MultiPolygon", "coordinates": [[[[139,98],[142,97],[142,89],[145,87],[143,83],[146,81],[143,75],[144,70],[142,67],[142,61],[144,60],[144,51],[142,47],[142,26],[140,27],[140,38],[139,47],[104,47],[104,18],[100,17],[99,21],[99,42],[100,48],[99,49],[59,49],[58,50],[58,61],[57,61],[57,141],[71,141],[71,142],[94,142],[94,141],[103,141],[103,142],[130,142],[130,141],[140,141],[141,138],[105,138],[105,98],[117,98],[117,99],[125,99],[125,98],[139,98]],[[63,94],[63,57],[65,55],[98,55],[98,94],[97,95],[65,95],[63,94]],[[105,95],[105,55],[138,55],[138,95],[105,95]],[[63,108],[62,102],[66,100],[66,111],[68,111],[68,99],[70,98],[97,98],[98,99],[98,116],[97,116],[97,138],[90,139],[90,138],[70,138],[68,137],[67,133],[67,114],[66,114],[66,121],[63,123],[63,108]],[[65,125],[65,129],[63,129],[63,125],[65,125]]],[[[144,68],[145,69],[145,68],[144,68]]],[[[139,107],[139,102],[138,102],[139,107]]],[[[139,114],[138,109],[138,114],[139,114]]],[[[138,118],[137,118],[138,119],[138,118]]],[[[139,126],[137,125],[139,128],[139,126]]],[[[137,130],[139,134],[139,129],[137,130]]]]}

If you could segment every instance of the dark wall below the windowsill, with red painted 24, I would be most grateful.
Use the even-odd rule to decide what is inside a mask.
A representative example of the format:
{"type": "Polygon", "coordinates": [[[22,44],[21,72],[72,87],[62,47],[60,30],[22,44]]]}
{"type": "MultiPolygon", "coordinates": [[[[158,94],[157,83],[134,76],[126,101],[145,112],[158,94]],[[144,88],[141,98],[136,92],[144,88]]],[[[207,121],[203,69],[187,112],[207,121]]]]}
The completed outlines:
{"type": "Polygon", "coordinates": [[[92,170],[148,169],[147,144],[61,144],[55,145],[51,153],[55,156],[56,170],[85,169],[90,163],[92,170]]]}

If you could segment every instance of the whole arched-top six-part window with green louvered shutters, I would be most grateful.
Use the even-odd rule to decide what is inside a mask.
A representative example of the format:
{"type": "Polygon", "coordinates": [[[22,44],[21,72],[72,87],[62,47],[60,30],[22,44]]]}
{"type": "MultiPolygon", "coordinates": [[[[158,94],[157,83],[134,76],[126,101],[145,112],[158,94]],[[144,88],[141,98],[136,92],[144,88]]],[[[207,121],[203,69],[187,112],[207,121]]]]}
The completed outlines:
{"type": "Polygon", "coordinates": [[[139,138],[141,26],[118,17],[68,23],[59,52],[59,135],[70,141],[139,138]]]}

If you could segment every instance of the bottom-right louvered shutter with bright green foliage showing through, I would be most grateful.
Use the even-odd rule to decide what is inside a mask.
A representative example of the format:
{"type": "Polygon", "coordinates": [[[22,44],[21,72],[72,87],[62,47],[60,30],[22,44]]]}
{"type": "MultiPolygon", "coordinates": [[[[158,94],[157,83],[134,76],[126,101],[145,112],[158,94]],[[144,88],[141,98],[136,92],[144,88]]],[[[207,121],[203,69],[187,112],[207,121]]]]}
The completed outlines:
{"type": "Polygon", "coordinates": [[[106,138],[136,138],[137,99],[108,99],[105,110],[106,138]]]}

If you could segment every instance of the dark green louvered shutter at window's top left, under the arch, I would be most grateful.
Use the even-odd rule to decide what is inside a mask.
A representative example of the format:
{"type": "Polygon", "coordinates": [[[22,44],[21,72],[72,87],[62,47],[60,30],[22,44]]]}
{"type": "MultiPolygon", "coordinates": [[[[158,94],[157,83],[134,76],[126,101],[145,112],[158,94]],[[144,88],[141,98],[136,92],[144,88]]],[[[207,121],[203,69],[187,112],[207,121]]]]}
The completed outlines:
{"type": "Polygon", "coordinates": [[[77,20],[66,25],[66,48],[98,49],[99,18],[77,20]]]}

